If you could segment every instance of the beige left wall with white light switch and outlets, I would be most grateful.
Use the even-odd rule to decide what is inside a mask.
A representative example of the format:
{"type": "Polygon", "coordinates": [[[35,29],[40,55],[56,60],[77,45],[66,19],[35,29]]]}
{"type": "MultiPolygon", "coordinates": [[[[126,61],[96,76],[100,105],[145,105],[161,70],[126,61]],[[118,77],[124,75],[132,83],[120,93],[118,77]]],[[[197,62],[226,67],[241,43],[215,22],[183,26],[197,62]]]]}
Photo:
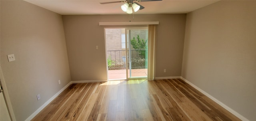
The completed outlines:
{"type": "Polygon", "coordinates": [[[70,82],[62,16],[22,0],[0,2],[2,72],[16,119],[24,121],[70,82]]]}

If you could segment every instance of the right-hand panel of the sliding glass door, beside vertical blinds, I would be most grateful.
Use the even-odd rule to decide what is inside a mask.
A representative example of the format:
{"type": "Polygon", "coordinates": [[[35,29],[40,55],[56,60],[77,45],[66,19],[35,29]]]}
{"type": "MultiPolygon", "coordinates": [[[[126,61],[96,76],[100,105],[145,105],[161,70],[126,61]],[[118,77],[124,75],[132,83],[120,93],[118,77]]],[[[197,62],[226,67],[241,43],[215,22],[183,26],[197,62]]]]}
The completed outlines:
{"type": "Polygon", "coordinates": [[[126,28],[126,55],[127,78],[147,78],[148,28],[126,28]]]}

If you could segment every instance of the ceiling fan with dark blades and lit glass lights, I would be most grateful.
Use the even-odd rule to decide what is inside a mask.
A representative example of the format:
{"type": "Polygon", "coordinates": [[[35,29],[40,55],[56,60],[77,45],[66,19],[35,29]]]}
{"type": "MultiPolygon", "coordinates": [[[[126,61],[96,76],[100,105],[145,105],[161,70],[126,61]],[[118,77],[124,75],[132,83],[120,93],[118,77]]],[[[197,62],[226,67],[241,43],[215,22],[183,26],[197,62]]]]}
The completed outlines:
{"type": "Polygon", "coordinates": [[[128,14],[132,14],[132,8],[134,12],[137,12],[138,10],[142,10],[145,8],[142,5],[138,4],[138,2],[149,2],[149,1],[162,1],[162,0],[125,0],[125,1],[114,1],[114,2],[101,2],[100,4],[125,2],[125,4],[121,6],[121,9],[128,14]]]}

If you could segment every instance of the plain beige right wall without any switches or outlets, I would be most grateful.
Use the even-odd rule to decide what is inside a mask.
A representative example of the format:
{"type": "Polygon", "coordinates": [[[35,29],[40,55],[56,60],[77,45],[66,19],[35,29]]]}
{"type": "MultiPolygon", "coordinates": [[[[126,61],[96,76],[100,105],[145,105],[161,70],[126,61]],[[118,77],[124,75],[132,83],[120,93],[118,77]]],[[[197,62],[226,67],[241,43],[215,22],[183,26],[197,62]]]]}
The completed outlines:
{"type": "Polygon", "coordinates": [[[256,121],[256,1],[220,1],[187,15],[182,77],[256,121]]]}

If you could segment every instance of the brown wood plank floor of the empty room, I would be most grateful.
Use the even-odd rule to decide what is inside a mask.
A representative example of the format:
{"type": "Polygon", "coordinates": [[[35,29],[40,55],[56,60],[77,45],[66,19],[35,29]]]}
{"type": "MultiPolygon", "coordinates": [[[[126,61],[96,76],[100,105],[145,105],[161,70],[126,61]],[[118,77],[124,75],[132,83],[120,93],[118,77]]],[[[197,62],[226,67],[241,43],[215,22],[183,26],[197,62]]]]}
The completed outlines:
{"type": "Polygon", "coordinates": [[[241,121],[182,79],[70,85],[32,121],[241,121]]]}

